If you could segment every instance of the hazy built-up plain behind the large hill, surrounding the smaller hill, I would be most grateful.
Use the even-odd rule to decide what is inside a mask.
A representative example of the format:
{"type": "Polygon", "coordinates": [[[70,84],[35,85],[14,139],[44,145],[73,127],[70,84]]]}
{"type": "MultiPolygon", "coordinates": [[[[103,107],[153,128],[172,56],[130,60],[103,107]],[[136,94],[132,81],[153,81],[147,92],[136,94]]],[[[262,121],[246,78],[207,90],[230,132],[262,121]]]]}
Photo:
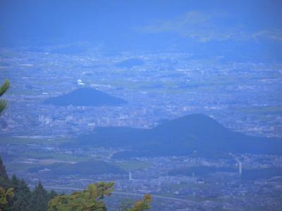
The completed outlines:
{"type": "Polygon", "coordinates": [[[205,113],[233,130],[281,136],[281,66],[199,59],[187,53],[62,55],[1,49],[1,77],[9,78],[9,106],[1,134],[70,136],[94,127],[154,127],[163,120],[205,113]],[[142,58],[143,65],[116,65],[142,58]],[[123,98],[122,107],[56,107],[51,96],[93,87],[123,98]],[[23,112],[24,111],[24,112],[23,112]]]}

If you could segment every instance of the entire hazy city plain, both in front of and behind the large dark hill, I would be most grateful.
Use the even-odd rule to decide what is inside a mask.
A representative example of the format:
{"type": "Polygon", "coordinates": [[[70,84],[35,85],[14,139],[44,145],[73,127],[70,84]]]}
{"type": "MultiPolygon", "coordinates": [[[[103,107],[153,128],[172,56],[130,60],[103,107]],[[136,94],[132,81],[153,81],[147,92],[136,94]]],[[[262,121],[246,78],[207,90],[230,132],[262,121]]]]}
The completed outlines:
{"type": "Polygon", "coordinates": [[[9,173],[16,173],[28,184],[42,181],[46,187],[58,190],[65,187],[63,191],[72,191],[95,181],[115,181],[117,191],[180,199],[156,198],[155,210],[159,207],[167,207],[167,210],[190,207],[193,210],[199,208],[199,203],[208,210],[243,210],[246,207],[279,210],[282,207],[281,177],[241,179],[245,169],[281,168],[282,158],[275,155],[243,154],[235,158],[230,156],[227,160],[137,158],[138,162],[147,162],[150,167],[128,169],[126,174],[90,176],[56,176],[48,169],[29,172],[28,167],[23,168],[53,162],[80,162],[88,158],[116,162],[111,155],[123,149],[73,149],[51,143],[54,137],[71,139],[93,132],[96,127],[152,128],[190,113],[207,114],[224,126],[245,134],[282,137],[281,64],[195,59],[188,53],[168,52],[125,52],[116,56],[105,56],[99,51],[87,55],[30,52],[27,49],[0,49],[0,52],[0,79],[9,78],[12,84],[4,96],[8,108],[0,117],[0,136],[25,136],[30,140],[44,137],[40,144],[0,143],[1,156],[7,162],[9,173]],[[144,64],[116,65],[128,58],[140,58],[144,64]],[[80,87],[99,89],[125,99],[128,104],[116,107],[44,104],[49,97],[80,87]],[[169,174],[183,167],[231,166],[236,172],[169,174]]]}

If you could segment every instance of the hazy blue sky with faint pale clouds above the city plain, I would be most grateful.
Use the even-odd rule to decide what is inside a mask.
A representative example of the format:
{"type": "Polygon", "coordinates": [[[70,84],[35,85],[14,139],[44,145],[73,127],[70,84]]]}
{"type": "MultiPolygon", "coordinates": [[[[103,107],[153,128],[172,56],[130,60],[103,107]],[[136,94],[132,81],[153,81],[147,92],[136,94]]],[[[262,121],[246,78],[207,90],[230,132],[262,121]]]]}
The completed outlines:
{"type": "Polygon", "coordinates": [[[282,1],[271,0],[0,0],[0,46],[86,41],[121,51],[192,52],[256,46],[280,59],[281,8],[282,1]]]}

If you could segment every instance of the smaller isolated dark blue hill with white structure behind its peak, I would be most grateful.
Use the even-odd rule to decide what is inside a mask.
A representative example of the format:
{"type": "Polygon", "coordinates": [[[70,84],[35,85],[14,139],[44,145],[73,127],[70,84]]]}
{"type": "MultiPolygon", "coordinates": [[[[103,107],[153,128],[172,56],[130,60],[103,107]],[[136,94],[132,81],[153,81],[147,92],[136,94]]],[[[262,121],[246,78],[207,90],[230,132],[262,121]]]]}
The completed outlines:
{"type": "Polygon", "coordinates": [[[68,94],[47,98],[44,103],[54,106],[120,106],[127,102],[97,89],[80,88],[68,94]]]}

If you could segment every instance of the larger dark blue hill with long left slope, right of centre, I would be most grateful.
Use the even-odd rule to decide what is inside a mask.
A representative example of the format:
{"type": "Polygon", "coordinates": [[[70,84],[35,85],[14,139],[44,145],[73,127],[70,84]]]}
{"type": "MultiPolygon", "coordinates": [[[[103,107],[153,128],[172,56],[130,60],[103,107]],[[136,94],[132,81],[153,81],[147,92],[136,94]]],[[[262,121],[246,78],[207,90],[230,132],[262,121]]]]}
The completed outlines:
{"type": "MultiPolygon", "coordinates": [[[[217,156],[221,153],[282,154],[282,140],[248,136],[202,114],[164,122],[153,129],[100,127],[93,134],[78,137],[74,146],[123,147],[116,158],[137,156],[217,156]]],[[[70,143],[71,144],[71,143],[70,143]]]]}

